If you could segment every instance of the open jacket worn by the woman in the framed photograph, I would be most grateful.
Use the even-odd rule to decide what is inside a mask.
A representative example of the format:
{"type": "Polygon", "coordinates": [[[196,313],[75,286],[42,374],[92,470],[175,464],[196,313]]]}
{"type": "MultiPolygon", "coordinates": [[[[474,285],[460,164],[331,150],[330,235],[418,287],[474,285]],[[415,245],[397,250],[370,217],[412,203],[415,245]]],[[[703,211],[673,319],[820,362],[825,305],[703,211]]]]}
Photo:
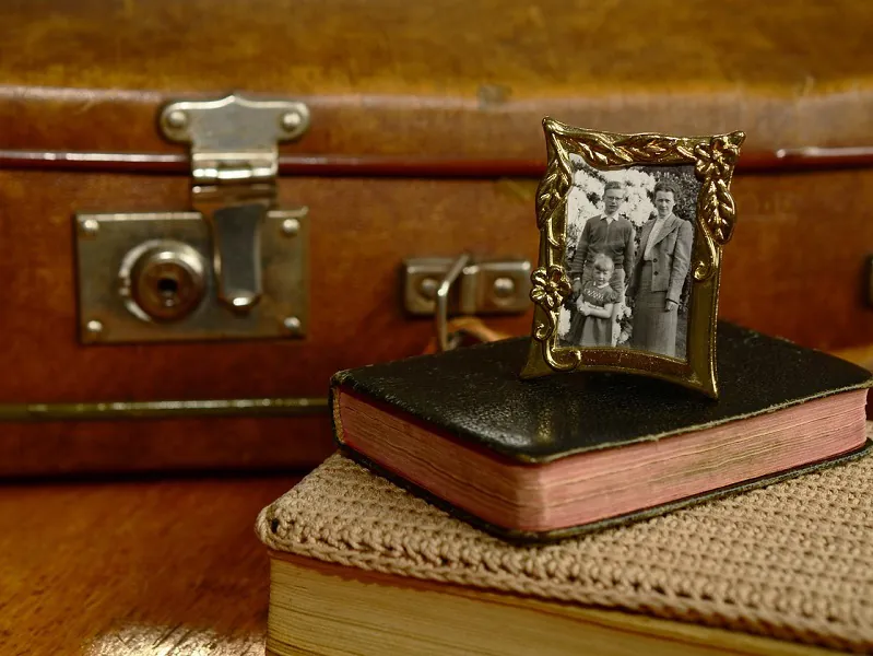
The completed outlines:
{"type": "MultiPolygon", "coordinates": [[[[630,283],[628,284],[628,296],[636,295],[639,289],[639,277],[642,274],[642,256],[646,254],[646,245],[649,235],[654,227],[654,219],[642,226],[639,238],[639,248],[634,258],[634,268],[630,272],[630,283]]],[[[692,244],[694,242],[694,226],[689,221],[683,221],[675,214],[670,214],[664,220],[661,232],[656,237],[656,243],[651,248],[651,290],[653,292],[666,292],[669,301],[679,303],[682,295],[682,285],[688,274],[691,266],[692,244]]]]}

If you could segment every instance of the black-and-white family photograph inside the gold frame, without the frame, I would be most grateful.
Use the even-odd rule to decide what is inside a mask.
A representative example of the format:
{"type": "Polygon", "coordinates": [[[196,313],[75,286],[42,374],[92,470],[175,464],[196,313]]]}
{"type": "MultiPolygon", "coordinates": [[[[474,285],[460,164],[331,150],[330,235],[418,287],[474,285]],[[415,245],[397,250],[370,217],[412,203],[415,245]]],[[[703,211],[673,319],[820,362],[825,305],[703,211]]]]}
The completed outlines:
{"type": "Polygon", "coordinates": [[[685,361],[700,183],[694,165],[599,171],[571,155],[558,345],[685,361]]]}

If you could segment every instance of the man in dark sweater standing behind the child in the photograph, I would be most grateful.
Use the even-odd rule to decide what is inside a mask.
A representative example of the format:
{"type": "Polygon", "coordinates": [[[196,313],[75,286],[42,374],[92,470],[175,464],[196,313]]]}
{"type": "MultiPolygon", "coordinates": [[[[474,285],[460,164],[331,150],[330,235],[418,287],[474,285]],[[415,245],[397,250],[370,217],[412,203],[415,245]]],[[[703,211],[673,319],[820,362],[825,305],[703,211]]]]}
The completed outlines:
{"type": "Polygon", "coordinates": [[[620,298],[624,298],[625,267],[630,267],[634,262],[634,226],[626,218],[618,215],[625,194],[622,183],[610,181],[604,185],[604,212],[586,222],[576,253],[569,262],[574,295],[578,296],[585,283],[591,280],[594,258],[603,254],[613,263],[610,285],[620,298]]]}

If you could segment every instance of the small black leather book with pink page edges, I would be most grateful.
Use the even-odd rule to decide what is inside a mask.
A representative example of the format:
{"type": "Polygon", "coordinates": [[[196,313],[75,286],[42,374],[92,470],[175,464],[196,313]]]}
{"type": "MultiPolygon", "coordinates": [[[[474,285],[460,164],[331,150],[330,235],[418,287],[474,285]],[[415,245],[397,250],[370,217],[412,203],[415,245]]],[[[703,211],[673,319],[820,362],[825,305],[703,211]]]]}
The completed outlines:
{"type": "Polygon", "coordinates": [[[557,539],[853,458],[870,372],[730,324],[720,397],[625,374],[522,380],[518,338],[332,379],[352,458],[502,537],[557,539]]]}

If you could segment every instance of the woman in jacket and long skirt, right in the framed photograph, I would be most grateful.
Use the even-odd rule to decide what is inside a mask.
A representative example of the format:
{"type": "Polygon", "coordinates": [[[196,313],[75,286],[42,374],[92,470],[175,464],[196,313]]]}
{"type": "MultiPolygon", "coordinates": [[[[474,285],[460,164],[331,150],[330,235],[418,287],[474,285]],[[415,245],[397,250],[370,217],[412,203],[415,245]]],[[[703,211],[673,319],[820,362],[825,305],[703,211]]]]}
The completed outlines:
{"type": "Polygon", "coordinates": [[[685,359],[684,352],[676,354],[676,318],[691,263],[694,227],[673,213],[679,198],[673,183],[662,180],[654,185],[657,215],[642,226],[627,296],[634,306],[630,347],[685,359]]]}

